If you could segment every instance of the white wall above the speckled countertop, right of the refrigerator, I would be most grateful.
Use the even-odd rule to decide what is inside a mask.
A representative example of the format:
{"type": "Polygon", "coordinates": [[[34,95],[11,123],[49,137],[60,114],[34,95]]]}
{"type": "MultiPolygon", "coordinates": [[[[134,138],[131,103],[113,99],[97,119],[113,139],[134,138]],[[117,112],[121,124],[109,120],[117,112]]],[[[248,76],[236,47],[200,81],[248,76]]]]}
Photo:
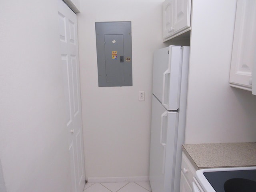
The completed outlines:
{"type": "Polygon", "coordinates": [[[228,84],[236,1],[195,0],[186,140],[255,142],[256,96],[228,84]]]}

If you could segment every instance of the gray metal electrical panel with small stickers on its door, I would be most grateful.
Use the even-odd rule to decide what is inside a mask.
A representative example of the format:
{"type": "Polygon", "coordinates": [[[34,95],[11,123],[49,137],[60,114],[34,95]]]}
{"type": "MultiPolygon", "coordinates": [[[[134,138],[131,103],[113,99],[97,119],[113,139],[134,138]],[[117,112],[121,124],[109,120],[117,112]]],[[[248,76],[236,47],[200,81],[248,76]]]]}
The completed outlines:
{"type": "Polygon", "coordinates": [[[132,86],[131,22],[96,22],[99,87],[132,86]]]}

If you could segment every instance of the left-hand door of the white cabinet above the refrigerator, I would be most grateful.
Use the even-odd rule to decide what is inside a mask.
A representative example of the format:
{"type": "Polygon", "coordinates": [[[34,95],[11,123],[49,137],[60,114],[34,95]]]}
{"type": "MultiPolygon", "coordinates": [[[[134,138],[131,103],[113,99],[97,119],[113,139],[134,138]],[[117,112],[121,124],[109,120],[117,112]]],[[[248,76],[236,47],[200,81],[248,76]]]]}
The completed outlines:
{"type": "Polygon", "coordinates": [[[163,37],[167,38],[173,33],[173,17],[174,17],[174,0],[165,0],[164,4],[164,18],[163,18],[163,37]]]}

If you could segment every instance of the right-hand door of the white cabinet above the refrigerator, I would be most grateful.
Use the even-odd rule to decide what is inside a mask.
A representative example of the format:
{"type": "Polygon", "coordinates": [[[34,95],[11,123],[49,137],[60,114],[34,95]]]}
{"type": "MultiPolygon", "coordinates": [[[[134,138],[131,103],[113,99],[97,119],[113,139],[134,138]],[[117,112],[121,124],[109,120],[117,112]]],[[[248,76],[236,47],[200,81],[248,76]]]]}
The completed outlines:
{"type": "Polygon", "coordinates": [[[191,0],[175,0],[174,3],[174,33],[190,27],[191,0]]]}

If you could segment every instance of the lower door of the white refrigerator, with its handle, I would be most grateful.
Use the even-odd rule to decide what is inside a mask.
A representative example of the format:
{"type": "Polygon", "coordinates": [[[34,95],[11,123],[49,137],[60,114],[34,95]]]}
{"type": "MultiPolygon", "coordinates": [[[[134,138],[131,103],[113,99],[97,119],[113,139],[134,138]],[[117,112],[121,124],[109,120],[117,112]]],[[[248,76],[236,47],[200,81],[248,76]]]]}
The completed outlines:
{"type": "Polygon", "coordinates": [[[178,112],[168,112],[153,96],[151,123],[149,179],[152,192],[173,192],[178,112]]]}

